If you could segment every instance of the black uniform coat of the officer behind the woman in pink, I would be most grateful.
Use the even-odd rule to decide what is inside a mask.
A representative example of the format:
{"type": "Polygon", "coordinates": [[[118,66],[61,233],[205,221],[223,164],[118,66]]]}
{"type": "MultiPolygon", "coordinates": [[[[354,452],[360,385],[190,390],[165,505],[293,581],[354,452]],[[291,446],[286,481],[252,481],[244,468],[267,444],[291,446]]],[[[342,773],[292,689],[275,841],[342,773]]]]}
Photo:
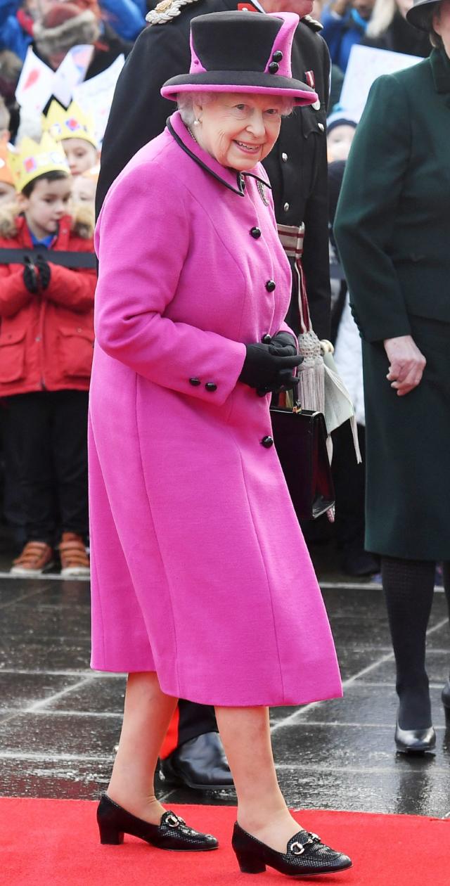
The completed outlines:
{"type": "MultiPolygon", "coordinates": [[[[106,191],[128,160],[163,131],[174,103],[159,89],[176,74],[190,68],[190,19],[207,12],[237,8],[236,0],[195,0],[165,25],[147,27],[136,40],[120,74],[102,146],[97,186],[97,213],[106,191]],[[120,136],[120,137],[119,137],[120,136]]],[[[258,10],[255,7],[255,11],[258,10]]],[[[274,150],[265,160],[275,200],[276,220],[306,224],[304,271],[314,330],[330,334],[330,278],[328,255],[326,108],[329,98],[330,57],[316,24],[301,21],[292,49],[292,74],[305,81],[314,72],[321,109],[296,109],[283,120],[274,150]]],[[[291,305],[288,323],[298,330],[298,310],[291,305]]]]}

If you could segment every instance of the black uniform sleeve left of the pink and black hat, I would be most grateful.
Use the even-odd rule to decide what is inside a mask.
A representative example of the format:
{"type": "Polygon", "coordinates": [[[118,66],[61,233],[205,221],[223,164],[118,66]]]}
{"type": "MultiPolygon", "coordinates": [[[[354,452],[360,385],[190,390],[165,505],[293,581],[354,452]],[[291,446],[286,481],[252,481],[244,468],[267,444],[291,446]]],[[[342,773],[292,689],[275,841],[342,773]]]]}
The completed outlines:
{"type": "Polygon", "coordinates": [[[97,214],[128,160],[159,136],[174,112],[174,103],[163,98],[159,89],[170,77],[189,71],[189,22],[186,28],[172,24],[146,27],[120,72],[102,144],[97,214]]]}

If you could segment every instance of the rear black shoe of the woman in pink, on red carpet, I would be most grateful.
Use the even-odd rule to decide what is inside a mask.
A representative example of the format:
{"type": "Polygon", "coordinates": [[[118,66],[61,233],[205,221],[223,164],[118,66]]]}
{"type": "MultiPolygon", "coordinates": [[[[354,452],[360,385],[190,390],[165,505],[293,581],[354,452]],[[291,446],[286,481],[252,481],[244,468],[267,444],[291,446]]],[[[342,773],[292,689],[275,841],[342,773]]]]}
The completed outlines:
{"type": "Polygon", "coordinates": [[[159,825],[136,818],[131,812],[122,809],[117,803],[102,794],[97,808],[97,823],[100,843],[118,846],[123,843],[123,835],[140,837],[158,849],[175,851],[205,852],[217,849],[219,843],[211,834],[199,834],[188,828],[185,821],[175,812],[164,812],[159,825]]]}

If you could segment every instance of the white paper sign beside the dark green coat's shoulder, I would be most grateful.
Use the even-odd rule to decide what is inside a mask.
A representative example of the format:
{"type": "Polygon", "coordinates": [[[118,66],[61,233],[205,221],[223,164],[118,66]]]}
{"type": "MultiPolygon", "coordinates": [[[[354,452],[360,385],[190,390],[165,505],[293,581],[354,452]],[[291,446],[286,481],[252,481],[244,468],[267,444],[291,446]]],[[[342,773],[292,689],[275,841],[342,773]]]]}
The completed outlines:
{"type": "Polygon", "coordinates": [[[417,56],[402,52],[376,50],[371,46],[353,46],[345,71],[339,105],[351,113],[354,120],[360,120],[372,83],[381,74],[395,74],[406,67],[423,61],[417,56]]]}

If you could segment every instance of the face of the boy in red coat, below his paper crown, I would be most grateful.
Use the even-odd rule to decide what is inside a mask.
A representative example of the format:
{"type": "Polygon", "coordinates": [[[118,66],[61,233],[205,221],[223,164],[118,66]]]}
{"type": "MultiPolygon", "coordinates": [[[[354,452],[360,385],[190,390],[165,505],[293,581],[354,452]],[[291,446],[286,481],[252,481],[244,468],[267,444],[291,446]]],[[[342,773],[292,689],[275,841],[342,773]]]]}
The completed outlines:
{"type": "Polygon", "coordinates": [[[42,178],[28,197],[19,195],[20,209],[35,237],[43,239],[58,232],[59,221],[68,213],[71,191],[72,180],[66,175],[53,182],[42,178]]]}

